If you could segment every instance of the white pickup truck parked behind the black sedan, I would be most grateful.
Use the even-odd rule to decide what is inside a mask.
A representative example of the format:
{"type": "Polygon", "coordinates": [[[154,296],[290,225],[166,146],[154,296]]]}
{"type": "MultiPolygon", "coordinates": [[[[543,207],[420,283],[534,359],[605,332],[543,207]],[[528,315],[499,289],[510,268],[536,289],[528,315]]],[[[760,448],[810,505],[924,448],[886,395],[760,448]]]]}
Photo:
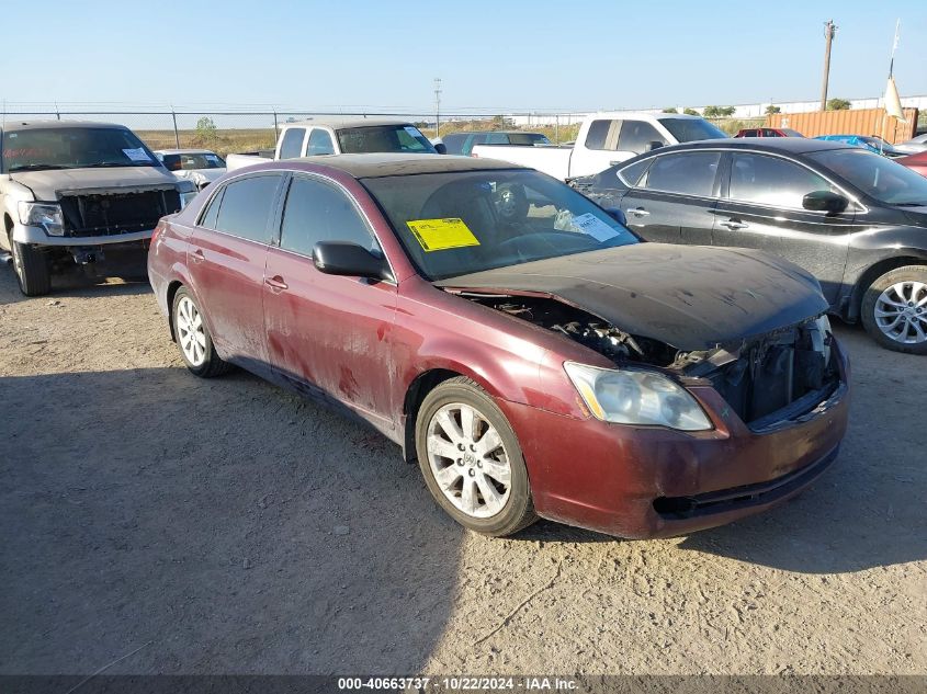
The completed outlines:
{"type": "Polygon", "coordinates": [[[565,181],[599,173],[657,147],[723,137],[727,135],[700,116],[602,112],[586,117],[572,146],[477,145],[472,156],[531,167],[565,181]]]}

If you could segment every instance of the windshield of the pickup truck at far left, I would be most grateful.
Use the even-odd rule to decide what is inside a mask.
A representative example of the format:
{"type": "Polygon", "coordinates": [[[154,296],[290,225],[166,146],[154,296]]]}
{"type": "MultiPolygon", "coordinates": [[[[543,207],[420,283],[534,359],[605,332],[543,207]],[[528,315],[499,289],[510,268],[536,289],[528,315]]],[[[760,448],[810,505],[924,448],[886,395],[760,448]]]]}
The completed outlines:
{"type": "Polygon", "coordinates": [[[157,167],[132,130],[121,127],[48,127],[3,133],[3,171],[157,167]]]}

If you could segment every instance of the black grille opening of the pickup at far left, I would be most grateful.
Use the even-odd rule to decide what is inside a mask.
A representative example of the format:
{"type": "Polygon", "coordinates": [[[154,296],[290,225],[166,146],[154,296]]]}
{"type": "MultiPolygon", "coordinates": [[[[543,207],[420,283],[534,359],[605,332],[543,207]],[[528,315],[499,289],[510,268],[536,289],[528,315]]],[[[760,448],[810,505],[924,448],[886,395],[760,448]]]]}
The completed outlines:
{"type": "Polygon", "coordinates": [[[60,203],[67,236],[118,236],[154,229],[158,219],[180,209],[180,193],[168,189],[65,195],[60,203]]]}

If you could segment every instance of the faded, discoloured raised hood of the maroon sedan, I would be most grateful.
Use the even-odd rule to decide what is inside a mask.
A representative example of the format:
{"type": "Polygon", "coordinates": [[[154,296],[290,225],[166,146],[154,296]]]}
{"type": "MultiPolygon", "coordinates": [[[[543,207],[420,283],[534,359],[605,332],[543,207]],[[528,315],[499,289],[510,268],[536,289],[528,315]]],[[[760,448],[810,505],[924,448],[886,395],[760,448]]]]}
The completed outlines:
{"type": "Polygon", "coordinates": [[[678,350],[771,332],[828,305],[792,263],[747,249],[638,243],[450,277],[437,286],[550,294],[678,350]]]}

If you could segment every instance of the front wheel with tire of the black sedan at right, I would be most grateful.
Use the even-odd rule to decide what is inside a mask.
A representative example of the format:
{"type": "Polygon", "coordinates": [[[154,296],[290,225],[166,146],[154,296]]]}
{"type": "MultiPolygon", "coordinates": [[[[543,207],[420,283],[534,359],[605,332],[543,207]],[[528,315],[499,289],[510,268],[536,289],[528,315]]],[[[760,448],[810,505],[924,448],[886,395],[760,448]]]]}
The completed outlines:
{"type": "Polygon", "coordinates": [[[904,265],[875,280],[861,314],[866,331],[883,348],[927,354],[927,265],[904,265]]]}

